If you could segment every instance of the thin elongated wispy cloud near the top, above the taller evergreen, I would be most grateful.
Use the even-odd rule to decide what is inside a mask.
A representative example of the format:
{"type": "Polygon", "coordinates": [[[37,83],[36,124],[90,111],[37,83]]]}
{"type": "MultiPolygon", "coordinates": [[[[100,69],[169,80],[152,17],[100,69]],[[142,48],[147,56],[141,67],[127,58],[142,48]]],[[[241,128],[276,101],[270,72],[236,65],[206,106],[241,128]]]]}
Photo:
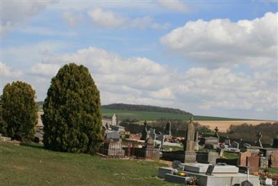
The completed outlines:
{"type": "Polygon", "coordinates": [[[102,8],[95,8],[88,11],[88,15],[97,26],[104,28],[139,28],[139,29],[167,29],[170,24],[154,22],[153,17],[137,17],[131,19],[117,15],[113,11],[103,10],[102,8]]]}

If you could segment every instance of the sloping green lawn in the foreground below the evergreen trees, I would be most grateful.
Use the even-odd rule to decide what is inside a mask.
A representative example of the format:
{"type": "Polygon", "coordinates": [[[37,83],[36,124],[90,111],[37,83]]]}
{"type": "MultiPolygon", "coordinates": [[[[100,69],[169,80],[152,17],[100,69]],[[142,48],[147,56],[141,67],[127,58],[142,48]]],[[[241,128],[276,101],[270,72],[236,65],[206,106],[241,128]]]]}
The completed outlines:
{"type": "Polygon", "coordinates": [[[159,166],[0,142],[0,185],[174,185],[156,178],[159,166]]]}

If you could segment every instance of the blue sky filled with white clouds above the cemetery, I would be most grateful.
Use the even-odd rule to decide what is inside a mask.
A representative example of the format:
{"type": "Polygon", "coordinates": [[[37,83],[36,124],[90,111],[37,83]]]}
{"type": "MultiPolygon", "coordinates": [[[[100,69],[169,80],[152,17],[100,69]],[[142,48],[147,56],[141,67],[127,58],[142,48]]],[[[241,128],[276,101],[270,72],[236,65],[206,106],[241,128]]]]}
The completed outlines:
{"type": "Polygon", "coordinates": [[[1,0],[1,91],[46,98],[66,63],[88,67],[101,104],[278,120],[277,1],[1,0]]]}

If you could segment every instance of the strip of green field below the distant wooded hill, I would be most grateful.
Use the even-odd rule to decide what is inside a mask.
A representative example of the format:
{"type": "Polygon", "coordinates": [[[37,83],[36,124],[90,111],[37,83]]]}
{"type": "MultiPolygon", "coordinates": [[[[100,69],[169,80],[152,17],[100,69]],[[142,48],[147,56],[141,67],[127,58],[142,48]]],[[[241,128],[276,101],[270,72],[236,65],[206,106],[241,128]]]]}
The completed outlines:
{"type": "MultiPolygon", "coordinates": [[[[165,113],[165,112],[156,112],[156,111],[127,111],[120,109],[104,109],[101,108],[102,116],[112,116],[114,113],[120,118],[138,118],[140,121],[154,121],[160,118],[172,118],[177,120],[189,120],[189,115],[184,114],[174,114],[174,113],[165,113]]],[[[212,116],[194,116],[195,120],[199,121],[233,121],[233,120],[243,120],[238,118],[220,118],[212,116]]]]}

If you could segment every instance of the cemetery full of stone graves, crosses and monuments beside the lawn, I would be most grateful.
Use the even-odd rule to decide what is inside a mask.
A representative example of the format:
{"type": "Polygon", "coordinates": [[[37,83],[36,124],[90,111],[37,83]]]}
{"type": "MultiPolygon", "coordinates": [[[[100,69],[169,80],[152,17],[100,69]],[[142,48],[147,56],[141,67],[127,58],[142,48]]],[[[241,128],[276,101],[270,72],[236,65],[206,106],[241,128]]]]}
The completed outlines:
{"type": "MultiPolygon", "coordinates": [[[[195,130],[193,117],[186,137],[172,137],[171,123],[156,132],[145,121],[140,134],[131,134],[120,125],[117,116],[103,119],[97,155],[104,158],[172,162],[158,168],[157,178],[167,183],[187,185],[278,185],[278,175],[268,170],[278,168],[278,137],[272,146],[263,147],[261,133],[254,144],[220,137],[218,127],[211,136],[195,130]],[[167,147],[167,148],[166,148],[167,147]],[[271,184],[269,184],[271,183],[271,184]]],[[[36,128],[35,141],[42,144],[42,124],[36,128]]],[[[0,136],[0,141],[11,141],[0,136]]],[[[12,141],[13,142],[13,141],[12,141]]]]}

